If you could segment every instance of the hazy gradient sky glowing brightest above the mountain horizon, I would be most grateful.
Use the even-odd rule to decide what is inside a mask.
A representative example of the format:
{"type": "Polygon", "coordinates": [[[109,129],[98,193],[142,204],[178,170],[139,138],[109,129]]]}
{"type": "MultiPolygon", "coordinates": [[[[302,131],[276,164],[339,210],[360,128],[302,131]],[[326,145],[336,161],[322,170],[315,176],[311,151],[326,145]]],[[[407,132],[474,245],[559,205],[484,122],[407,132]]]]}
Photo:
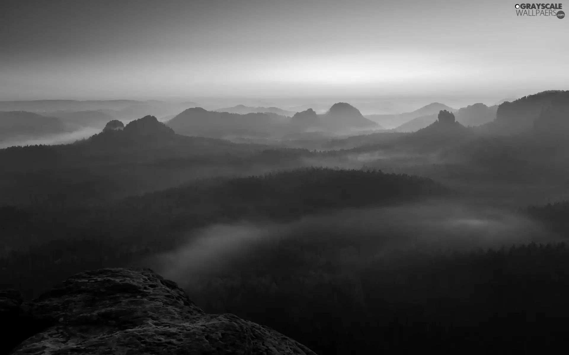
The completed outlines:
{"type": "Polygon", "coordinates": [[[515,4],[8,0],[0,99],[569,89],[569,19],[515,4]]]}

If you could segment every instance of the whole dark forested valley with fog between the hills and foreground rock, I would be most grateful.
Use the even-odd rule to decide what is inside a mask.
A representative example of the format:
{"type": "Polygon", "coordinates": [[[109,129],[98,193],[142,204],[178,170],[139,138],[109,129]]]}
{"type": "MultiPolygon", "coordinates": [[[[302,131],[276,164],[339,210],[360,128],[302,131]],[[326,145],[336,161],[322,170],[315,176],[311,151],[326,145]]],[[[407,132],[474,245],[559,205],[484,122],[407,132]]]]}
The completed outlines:
{"type": "MultiPolygon", "coordinates": [[[[143,292],[136,303],[158,277],[84,273],[53,285],[84,270],[152,268],[211,314],[180,327],[197,336],[243,325],[253,329],[235,338],[244,349],[278,341],[256,343],[261,328],[224,314],[319,354],[552,352],[565,346],[569,318],[567,102],[548,91],[498,106],[478,127],[442,111],[417,132],[254,144],[182,136],[145,116],[75,144],[2,149],[0,289],[39,297],[24,305],[88,304],[97,287],[73,294],[72,285],[121,279],[137,286],[119,293],[143,292]]],[[[39,324],[77,333],[30,332],[82,344],[81,332],[125,341],[127,329],[150,332],[118,329],[141,320],[130,308],[93,319],[72,309],[63,323],[39,324]]],[[[197,345],[217,344],[207,336],[197,345]]],[[[168,337],[174,347],[188,339],[168,337]]]]}

